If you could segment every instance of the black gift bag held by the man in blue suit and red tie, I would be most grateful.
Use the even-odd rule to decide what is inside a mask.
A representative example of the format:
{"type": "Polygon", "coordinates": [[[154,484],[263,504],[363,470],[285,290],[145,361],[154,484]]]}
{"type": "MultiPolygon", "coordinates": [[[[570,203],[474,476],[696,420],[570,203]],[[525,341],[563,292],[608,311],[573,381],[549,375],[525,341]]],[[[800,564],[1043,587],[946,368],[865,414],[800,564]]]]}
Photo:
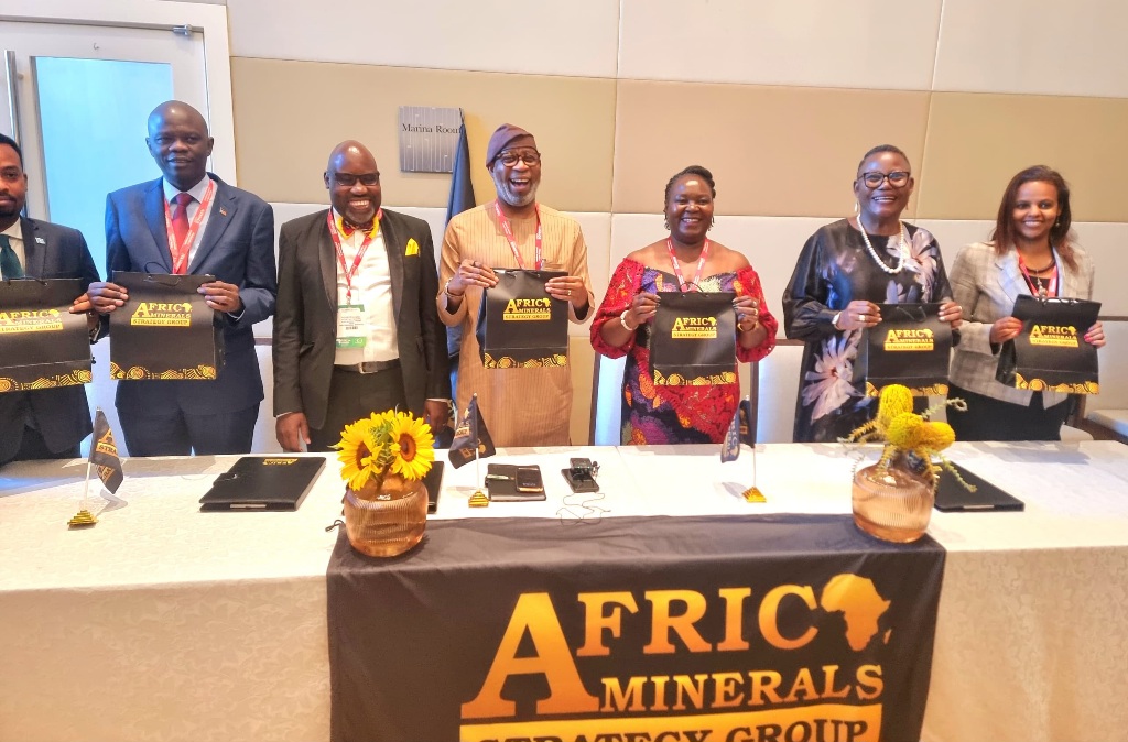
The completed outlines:
{"type": "Polygon", "coordinates": [[[109,315],[114,379],[214,379],[223,368],[219,312],[197,291],[211,275],[114,271],[130,300],[109,315]]]}

